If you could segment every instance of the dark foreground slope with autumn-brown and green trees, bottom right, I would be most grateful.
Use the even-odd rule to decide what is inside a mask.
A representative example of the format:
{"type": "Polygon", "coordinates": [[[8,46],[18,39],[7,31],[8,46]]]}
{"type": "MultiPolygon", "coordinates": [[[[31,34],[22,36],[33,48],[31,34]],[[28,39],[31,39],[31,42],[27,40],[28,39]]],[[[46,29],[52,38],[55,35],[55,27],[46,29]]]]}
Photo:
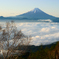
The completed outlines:
{"type": "MultiPolygon", "coordinates": [[[[35,49],[33,48],[33,50],[35,49]]],[[[59,59],[59,41],[46,46],[41,45],[35,52],[30,49],[30,52],[26,52],[21,56],[14,55],[7,59],[59,59]]]]}

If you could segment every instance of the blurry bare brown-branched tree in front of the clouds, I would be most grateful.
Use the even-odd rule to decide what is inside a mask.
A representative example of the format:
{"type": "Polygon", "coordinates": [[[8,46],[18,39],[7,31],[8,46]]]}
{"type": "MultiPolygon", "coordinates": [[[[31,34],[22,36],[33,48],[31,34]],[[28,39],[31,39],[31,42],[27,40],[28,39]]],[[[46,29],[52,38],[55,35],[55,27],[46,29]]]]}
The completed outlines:
{"type": "Polygon", "coordinates": [[[4,59],[16,53],[25,53],[30,41],[31,37],[17,30],[14,21],[7,22],[4,28],[0,26],[0,50],[5,51],[2,52],[4,59]]]}

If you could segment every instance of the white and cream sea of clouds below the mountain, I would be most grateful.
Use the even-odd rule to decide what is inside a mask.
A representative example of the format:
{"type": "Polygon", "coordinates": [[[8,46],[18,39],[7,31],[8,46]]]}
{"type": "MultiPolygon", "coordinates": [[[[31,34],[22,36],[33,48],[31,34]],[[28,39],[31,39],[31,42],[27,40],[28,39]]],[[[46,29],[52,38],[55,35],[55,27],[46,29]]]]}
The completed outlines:
{"type": "Polygon", "coordinates": [[[31,45],[39,46],[59,41],[59,23],[16,22],[15,24],[25,35],[32,36],[31,45]]]}

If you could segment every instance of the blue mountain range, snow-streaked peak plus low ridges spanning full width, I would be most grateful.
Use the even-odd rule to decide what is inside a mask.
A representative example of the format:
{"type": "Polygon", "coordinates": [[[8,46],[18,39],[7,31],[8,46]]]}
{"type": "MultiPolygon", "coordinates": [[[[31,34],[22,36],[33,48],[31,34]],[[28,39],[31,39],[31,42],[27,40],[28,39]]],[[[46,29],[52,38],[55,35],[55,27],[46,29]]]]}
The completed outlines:
{"type": "Polygon", "coordinates": [[[10,19],[10,20],[39,20],[39,19],[51,19],[52,21],[59,21],[59,18],[49,15],[39,8],[34,8],[31,11],[28,11],[21,15],[11,16],[11,17],[3,17],[0,16],[0,19],[10,19]]]}

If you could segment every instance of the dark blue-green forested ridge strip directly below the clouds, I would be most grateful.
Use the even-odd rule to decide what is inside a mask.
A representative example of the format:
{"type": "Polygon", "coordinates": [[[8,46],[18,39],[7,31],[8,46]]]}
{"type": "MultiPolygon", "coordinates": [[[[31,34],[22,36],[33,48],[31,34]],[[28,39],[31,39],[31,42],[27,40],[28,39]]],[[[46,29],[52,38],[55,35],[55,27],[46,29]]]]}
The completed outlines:
{"type": "MultiPolygon", "coordinates": [[[[29,50],[29,51],[35,52],[35,51],[38,51],[41,46],[42,46],[44,49],[45,49],[46,47],[51,48],[51,46],[55,47],[55,46],[57,45],[57,43],[59,43],[59,41],[53,42],[53,43],[51,43],[51,44],[46,44],[46,45],[39,45],[39,46],[30,45],[30,46],[25,46],[25,47],[28,47],[28,50],[29,50]]],[[[19,47],[18,47],[18,50],[20,50],[19,47]]]]}

